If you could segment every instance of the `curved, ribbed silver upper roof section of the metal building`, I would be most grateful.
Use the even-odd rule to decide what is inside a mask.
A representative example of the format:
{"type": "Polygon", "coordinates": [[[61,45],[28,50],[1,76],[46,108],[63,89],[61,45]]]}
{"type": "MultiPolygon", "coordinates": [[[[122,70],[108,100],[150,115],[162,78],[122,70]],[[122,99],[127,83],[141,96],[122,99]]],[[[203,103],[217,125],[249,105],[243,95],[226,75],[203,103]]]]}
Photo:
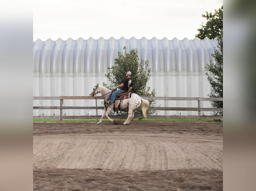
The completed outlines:
{"type": "Polygon", "coordinates": [[[214,61],[213,47],[217,47],[217,39],[195,38],[178,40],[136,39],[134,37],[125,39],[69,38],[64,41],[57,39],[52,41],[40,39],[33,42],[33,72],[41,74],[54,73],[101,73],[107,72],[111,67],[118,52],[137,48],[140,59],[148,60],[149,67],[154,72],[202,72],[205,71],[207,63],[214,61]]]}

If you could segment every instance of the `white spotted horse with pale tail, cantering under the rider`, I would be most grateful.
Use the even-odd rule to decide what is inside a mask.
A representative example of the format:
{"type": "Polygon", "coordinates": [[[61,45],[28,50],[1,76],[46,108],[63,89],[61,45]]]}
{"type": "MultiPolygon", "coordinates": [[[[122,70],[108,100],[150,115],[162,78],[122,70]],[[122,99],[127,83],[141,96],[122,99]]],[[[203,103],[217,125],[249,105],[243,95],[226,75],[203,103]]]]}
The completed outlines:
{"type": "Polygon", "coordinates": [[[100,121],[97,123],[101,123],[102,119],[104,119],[104,116],[106,116],[110,121],[114,122],[113,119],[111,119],[108,114],[111,112],[112,109],[118,109],[118,105],[121,102],[121,106],[119,109],[127,109],[129,108],[128,111],[128,117],[126,119],[126,121],[123,123],[124,125],[129,124],[131,122],[131,120],[134,117],[134,111],[140,106],[142,105],[142,113],[144,118],[147,118],[147,114],[146,111],[149,107],[149,102],[146,99],[141,98],[139,95],[132,93],[131,97],[128,99],[123,99],[123,100],[115,100],[115,102],[111,105],[106,105],[105,103],[107,102],[107,98],[109,97],[109,95],[111,94],[111,90],[107,89],[104,86],[99,85],[99,83],[97,85],[94,86],[92,92],[90,93],[90,97],[94,97],[96,94],[100,93],[101,96],[103,96],[104,98],[104,111],[103,111],[103,115],[101,116],[100,121]]]}

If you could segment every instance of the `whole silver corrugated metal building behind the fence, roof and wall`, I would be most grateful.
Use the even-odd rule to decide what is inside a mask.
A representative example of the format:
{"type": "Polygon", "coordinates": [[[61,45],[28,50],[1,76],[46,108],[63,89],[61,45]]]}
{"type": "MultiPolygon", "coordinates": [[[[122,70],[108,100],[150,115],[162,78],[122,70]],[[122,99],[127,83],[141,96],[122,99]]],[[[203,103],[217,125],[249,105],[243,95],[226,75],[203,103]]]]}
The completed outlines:
{"type": "MultiPolygon", "coordinates": [[[[214,62],[212,54],[217,40],[195,38],[168,40],[79,38],[67,41],[40,39],[33,42],[33,95],[84,96],[94,85],[108,82],[107,68],[114,65],[118,52],[126,46],[127,52],[137,48],[140,59],[148,60],[152,77],[147,83],[156,96],[208,97],[211,86],[207,81],[206,64],[214,62]]],[[[117,82],[121,83],[121,82],[117,82]]],[[[98,105],[101,102],[98,101],[98,105]]],[[[34,100],[34,106],[59,106],[58,100],[34,100]]],[[[197,101],[157,101],[157,105],[197,107],[197,101]]],[[[95,106],[95,100],[65,100],[64,106],[95,106]]],[[[203,101],[202,107],[211,107],[203,101]]],[[[93,110],[64,110],[66,115],[95,115],[93,110]]],[[[58,110],[34,110],[33,115],[59,115],[58,110]]],[[[101,115],[102,111],[98,111],[101,115]]],[[[160,111],[158,114],[197,115],[194,111],[160,111]]],[[[204,114],[212,114],[205,112],[204,114]]]]}

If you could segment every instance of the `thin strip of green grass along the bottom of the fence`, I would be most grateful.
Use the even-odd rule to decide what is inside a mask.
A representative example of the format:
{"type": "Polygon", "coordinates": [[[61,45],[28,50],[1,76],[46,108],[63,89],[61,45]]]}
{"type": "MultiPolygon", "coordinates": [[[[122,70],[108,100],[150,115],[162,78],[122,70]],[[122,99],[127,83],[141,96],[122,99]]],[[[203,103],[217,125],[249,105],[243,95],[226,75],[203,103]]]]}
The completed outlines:
{"type": "MultiPolygon", "coordinates": [[[[113,119],[114,120],[114,119],[113,119]]],[[[98,122],[99,119],[62,119],[62,122],[98,122]]],[[[123,120],[125,121],[125,120],[123,120]]],[[[153,121],[153,122],[198,122],[198,119],[133,119],[132,121],[153,121]]],[[[59,122],[59,119],[33,119],[33,122],[59,122]]],[[[111,122],[103,119],[102,122],[111,122]]],[[[201,122],[218,122],[211,119],[201,119],[201,122]]],[[[221,120],[223,122],[223,120],[221,120]]]]}

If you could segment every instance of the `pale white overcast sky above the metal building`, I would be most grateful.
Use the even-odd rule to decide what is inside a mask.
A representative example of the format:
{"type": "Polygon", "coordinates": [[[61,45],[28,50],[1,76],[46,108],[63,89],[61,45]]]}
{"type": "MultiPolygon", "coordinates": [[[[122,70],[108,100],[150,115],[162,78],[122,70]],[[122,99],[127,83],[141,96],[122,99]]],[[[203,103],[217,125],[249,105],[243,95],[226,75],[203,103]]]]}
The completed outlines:
{"type": "Polygon", "coordinates": [[[194,39],[223,0],[33,0],[33,41],[194,39]]]}

